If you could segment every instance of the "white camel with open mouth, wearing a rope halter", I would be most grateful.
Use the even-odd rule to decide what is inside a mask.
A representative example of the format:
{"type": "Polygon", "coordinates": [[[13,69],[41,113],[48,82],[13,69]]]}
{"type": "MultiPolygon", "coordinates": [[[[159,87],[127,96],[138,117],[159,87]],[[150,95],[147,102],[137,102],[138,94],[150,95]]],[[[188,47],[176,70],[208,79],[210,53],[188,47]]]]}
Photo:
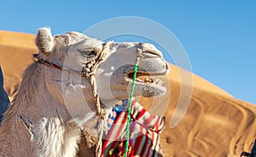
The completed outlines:
{"type": "MultiPolygon", "coordinates": [[[[49,28],[38,29],[35,43],[35,61],[3,116],[2,157],[76,156],[81,131],[101,136],[113,104],[129,96],[138,58],[137,77],[169,72],[153,44],[102,42],[79,32],[53,36],[49,28]]],[[[134,96],[165,94],[159,82],[136,78],[134,96]]]]}

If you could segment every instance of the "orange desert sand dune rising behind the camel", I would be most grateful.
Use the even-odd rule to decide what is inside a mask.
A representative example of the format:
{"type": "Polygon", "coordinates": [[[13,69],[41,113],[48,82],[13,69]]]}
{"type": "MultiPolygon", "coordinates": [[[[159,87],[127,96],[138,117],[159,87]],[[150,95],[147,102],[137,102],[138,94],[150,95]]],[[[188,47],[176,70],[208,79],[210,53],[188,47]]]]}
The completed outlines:
{"type": "MultiPolygon", "coordinates": [[[[32,54],[38,51],[34,38],[32,34],[0,31],[0,66],[10,100],[19,88],[23,71],[32,63],[32,54]]],[[[149,112],[166,116],[166,129],[161,133],[160,143],[164,156],[231,157],[239,156],[242,151],[249,152],[256,138],[256,106],[230,96],[193,73],[170,66],[171,73],[165,78],[169,93],[154,101],[152,98],[140,100],[149,112]],[[180,73],[191,76],[193,84],[183,84],[180,73]],[[171,128],[182,84],[183,89],[192,89],[193,93],[187,96],[190,103],[182,121],[171,128]],[[166,102],[167,108],[161,108],[166,102]]]]}

